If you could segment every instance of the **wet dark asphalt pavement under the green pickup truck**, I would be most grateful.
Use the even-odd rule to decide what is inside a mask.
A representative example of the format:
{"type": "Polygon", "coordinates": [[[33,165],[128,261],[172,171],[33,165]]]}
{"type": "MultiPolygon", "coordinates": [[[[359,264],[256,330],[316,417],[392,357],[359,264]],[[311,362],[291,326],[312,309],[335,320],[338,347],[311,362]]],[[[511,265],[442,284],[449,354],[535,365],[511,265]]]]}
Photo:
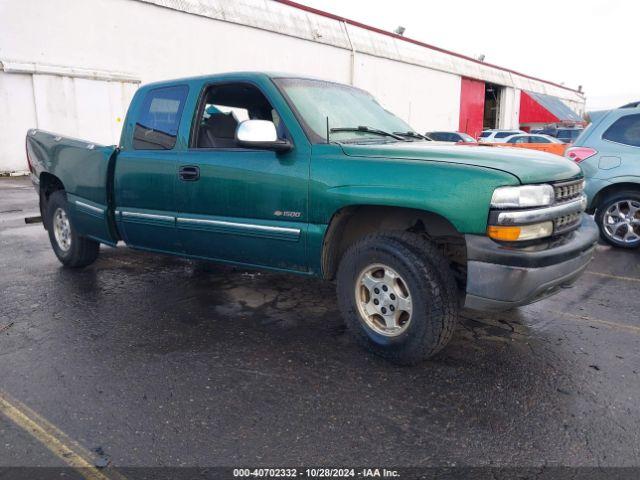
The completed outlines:
{"type": "MultiPolygon", "coordinates": [[[[71,271],[30,215],[0,178],[0,391],[116,466],[640,465],[640,251],[398,367],[332,284],[108,247],[71,271]]],[[[0,415],[0,466],[60,464],[0,415]]]]}

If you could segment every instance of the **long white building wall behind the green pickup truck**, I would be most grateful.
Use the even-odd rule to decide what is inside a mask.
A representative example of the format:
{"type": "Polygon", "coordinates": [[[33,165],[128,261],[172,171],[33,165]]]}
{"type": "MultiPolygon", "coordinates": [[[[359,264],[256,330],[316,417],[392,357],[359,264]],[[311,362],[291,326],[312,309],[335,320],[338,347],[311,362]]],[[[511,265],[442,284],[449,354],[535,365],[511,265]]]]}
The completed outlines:
{"type": "MultiPolygon", "coordinates": [[[[573,91],[271,0],[0,0],[0,172],[37,127],[116,143],[139,82],[267,70],[354,83],[419,131],[457,129],[461,76],[573,91]],[[29,21],[24,21],[29,19],[29,21]]],[[[517,121],[519,96],[501,122],[517,121]]]]}

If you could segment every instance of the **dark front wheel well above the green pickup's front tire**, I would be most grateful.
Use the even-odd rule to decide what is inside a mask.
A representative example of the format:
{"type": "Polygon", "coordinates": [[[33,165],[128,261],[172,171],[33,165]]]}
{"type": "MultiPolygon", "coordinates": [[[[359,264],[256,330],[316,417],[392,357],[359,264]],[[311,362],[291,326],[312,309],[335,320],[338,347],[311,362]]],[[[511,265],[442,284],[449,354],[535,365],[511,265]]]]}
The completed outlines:
{"type": "Polygon", "coordinates": [[[323,277],[335,277],[342,255],[360,238],[392,230],[429,238],[449,260],[458,283],[466,282],[466,244],[449,220],[425,210],[375,205],[345,207],[333,215],[322,244],[323,277]]]}

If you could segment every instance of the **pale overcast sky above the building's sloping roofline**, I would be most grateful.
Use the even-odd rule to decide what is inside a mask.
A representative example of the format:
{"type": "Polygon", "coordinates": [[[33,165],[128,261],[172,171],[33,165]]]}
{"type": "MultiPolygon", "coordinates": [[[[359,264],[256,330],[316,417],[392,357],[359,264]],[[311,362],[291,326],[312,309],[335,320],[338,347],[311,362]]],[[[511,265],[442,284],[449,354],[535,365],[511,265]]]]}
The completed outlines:
{"type": "Polygon", "coordinates": [[[636,0],[297,0],[571,88],[588,110],[640,100],[636,0]]]}

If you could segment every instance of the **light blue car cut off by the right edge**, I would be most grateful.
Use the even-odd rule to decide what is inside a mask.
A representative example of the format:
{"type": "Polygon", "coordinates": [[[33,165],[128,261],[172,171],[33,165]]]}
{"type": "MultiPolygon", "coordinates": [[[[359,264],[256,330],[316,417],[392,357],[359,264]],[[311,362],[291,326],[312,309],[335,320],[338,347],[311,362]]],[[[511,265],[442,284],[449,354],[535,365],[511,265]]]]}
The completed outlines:
{"type": "Polygon", "coordinates": [[[588,211],[602,238],[616,247],[640,246],[640,108],[591,114],[592,123],[567,149],[582,167],[588,211]]]}

